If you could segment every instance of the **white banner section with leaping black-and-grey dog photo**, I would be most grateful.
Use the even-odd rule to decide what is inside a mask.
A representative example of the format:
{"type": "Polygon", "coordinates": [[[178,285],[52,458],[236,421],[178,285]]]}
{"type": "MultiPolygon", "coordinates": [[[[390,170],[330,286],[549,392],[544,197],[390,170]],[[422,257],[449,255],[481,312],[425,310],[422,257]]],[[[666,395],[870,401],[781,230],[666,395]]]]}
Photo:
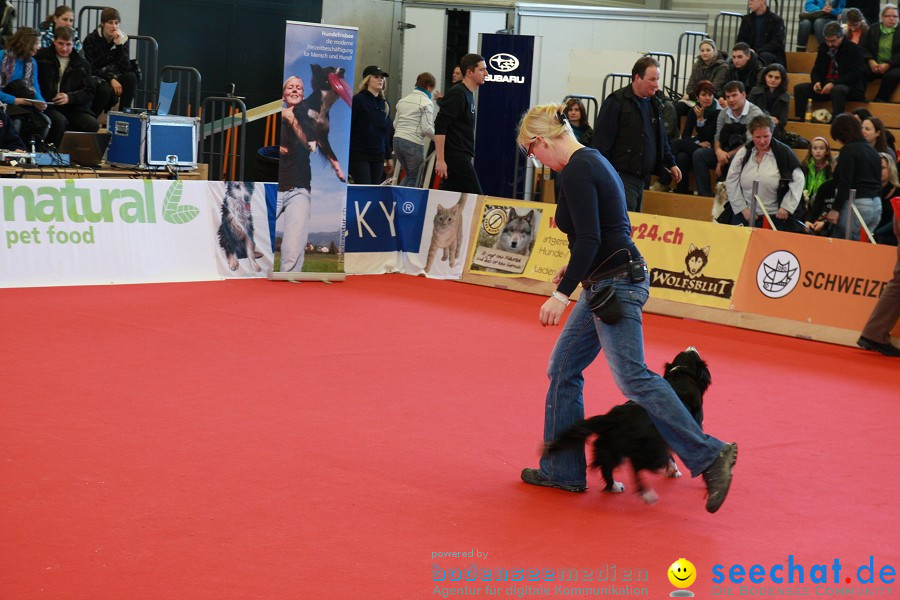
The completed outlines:
{"type": "Polygon", "coordinates": [[[274,264],[267,184],[210,181],[210,218],[216,233],[216,267],[222,277],[265,277],[274,264]]]}

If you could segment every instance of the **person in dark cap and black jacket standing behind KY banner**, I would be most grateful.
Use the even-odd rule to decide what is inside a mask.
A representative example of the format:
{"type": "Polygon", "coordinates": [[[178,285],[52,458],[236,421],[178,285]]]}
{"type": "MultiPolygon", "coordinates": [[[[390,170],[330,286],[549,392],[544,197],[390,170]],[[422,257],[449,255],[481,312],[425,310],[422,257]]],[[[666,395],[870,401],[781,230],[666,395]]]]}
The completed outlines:
{"type": "Polygon", "coordinates": [[[387,76],[381,67],[366,67],[359,91],[353,96],[349,165],[353,183],[378,185],[385,179],[385,168],[389,173],[394,170],[391,160],[394,131],[390,107],[384,98],[387,76]]]}

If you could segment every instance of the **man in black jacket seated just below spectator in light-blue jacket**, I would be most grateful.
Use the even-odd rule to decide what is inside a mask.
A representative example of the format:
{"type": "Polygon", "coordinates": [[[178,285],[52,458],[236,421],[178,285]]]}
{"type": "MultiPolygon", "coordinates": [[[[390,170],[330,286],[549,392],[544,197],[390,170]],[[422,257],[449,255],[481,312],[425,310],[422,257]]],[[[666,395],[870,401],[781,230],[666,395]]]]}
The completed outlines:
{"type": "MultiPolygon", "coordinates": [[[[841,26],[832,22],[825,26],[825,45],[819,47],[810,73],[811,83],[794,86],[794,111],[802,120],[806,102],[831,100],[832,114],[844,112],[848,100],[866,100],[863,78],[865,61],[862,48],[846,41],[841,26]]],[[[852,118],[852,117],[851,117],[852,118]]]]}

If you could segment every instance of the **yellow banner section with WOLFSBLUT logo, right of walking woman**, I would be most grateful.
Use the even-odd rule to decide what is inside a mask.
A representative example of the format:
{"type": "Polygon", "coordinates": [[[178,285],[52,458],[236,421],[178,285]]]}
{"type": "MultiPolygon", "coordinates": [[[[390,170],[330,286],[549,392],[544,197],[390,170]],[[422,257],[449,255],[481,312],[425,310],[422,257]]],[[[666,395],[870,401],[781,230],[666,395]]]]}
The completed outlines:
{"type": "Polygon", "coordinates": [[[650,296],[728,310],[750,240],[747,227],[628,213],[650,268],[650,296]]]}

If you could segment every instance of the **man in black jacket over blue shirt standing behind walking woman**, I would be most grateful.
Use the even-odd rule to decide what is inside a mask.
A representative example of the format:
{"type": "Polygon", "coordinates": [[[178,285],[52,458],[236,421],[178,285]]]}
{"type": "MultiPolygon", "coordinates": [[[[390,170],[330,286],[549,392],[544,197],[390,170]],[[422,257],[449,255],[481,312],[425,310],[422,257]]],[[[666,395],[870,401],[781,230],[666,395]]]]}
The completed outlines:
{"type": "Polygon", "coordinates": [[[658,89],[659,63],[642,56],[631,68],[631,85],[603,100],[594,123],[593,145],[619,173],[630,211],[640,212],[651,175],[668,169],[675,185],[681,181],[655,95],[658,89]]]}

